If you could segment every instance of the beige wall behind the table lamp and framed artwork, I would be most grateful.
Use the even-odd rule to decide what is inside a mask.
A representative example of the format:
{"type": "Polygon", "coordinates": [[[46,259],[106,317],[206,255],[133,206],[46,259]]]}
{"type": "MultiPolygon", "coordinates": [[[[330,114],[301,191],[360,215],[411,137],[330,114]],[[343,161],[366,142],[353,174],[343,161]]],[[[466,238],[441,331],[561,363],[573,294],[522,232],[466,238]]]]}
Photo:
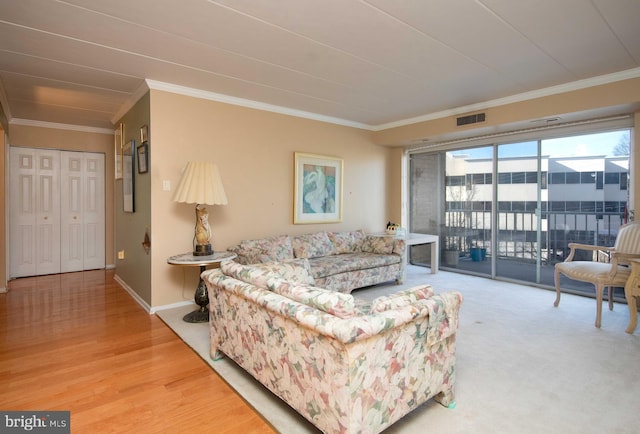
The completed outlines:
{"type": "Polygon", "coordinates": [[[191,300],[197,283],[197,267],[166,262],[192,250],[194,205],[171,201],[187,161],[215,162],[222,174],[229,204],[209,207],[215,250],[279,234],[378,231],[399,218],[399,202],[387,199],[392,151],[370,132],[153,90],[150,125],[153,306],[191,300]],[[293,224],[295,151],[344,160],[342,223],[293,224]]]}

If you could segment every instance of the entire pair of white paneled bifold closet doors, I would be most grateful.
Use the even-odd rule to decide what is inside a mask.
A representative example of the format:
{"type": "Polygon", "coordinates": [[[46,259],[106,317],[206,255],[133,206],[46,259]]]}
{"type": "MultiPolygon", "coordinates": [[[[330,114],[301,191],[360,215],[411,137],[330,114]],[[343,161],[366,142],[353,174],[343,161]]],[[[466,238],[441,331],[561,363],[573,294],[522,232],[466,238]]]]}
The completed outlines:
{"type": "Polygon", "coordinates": [[[10,160],[10,277],[104,268],[104,154],[11,147],[10,160]]]}

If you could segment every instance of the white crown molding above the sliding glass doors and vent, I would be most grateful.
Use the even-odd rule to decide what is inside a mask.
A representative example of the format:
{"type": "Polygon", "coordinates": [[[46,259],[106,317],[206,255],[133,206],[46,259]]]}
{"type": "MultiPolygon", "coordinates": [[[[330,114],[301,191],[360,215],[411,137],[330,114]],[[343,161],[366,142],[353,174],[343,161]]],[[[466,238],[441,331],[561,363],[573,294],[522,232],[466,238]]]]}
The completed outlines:
{"type": "Polygon", "coordinates": [[[386,124],[380,124],[372,127],[372,130],[382,131],[389,128],[402,127],[405,125],[416,124],[418,122],[432,121],[435,119],[445,118],[449,116],[456,116],[462,113],[486,110],[488,108],[498,107],[501,105],[523,102],[523,101],[527,101],[535,98],[557,95],[565,92],[586,89],[593,86],[600,86],[603,84],[615,83],[617,81],[629,80],[629,79],[634,79],[638,77],[640,77],[640,68],[627,69],[625,71],[614,72],[612,74],[600,75],[597,77],[591,77],[591,78],[586,78],[584,80],[572,81],[570,83],[551,86],[544,89],[537,89],[537,90],[532,90],[530,92],[523,92],[516,95],[507,96],[504,98],[494,99],[491,101],[484,101],[478,104],[470,104],[470,105],[456,107],[449,110],[430,113],[428,115],[417,116],[414,118],[404,119],[396,122],[389,122],[386,124]]]}

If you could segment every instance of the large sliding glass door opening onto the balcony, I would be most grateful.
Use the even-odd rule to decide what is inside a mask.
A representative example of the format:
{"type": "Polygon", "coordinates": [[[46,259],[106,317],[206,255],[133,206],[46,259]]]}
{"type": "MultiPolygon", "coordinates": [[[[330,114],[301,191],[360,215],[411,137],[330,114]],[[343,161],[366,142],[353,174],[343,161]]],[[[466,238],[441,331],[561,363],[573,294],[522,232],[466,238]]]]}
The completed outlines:
{"type": "Polygon", "coordinates": [[[570,242],[615,242],[629,137],[625,129],[413,154],[411,230],[440,235],[442,268],[552,286],[570,242]]]}

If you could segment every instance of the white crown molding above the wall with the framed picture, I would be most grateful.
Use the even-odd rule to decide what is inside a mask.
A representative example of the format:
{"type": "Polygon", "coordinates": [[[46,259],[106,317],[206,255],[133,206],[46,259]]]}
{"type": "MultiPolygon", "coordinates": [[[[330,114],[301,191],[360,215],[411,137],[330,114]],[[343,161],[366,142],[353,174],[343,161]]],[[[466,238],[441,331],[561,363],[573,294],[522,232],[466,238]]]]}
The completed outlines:
{"type": "Polygon", "coordinates": [[[194,98],[207,99],[210,101],[217,101],[226,104],[233,104],[237,106],[263,110],[273,113],[280,113],[289,116],[295,116],[298,118],[311,119],[314,121],[327,122],[331,124],[337,124],[347,127],[359,128],[363,130],[373,130],[372,125],[363,124],[360,122],[349,121],[346,119],[335,118],[331,116],[324,116],[317,113],[311,113],[304,110],[295,110],[288,107],[282,107],[274,104],[267,104],[259,101],[253,101],[244,98],[238,98],[234,96],[224,95],[221,93],[210,92],[201,89],[194,89],[192,87],[179,86],[176,84],[165,83],[156,80],[145,80],[149,89],[161,90],[170,93],[176,93],[179,95],[190,96],[194,98]]]}

